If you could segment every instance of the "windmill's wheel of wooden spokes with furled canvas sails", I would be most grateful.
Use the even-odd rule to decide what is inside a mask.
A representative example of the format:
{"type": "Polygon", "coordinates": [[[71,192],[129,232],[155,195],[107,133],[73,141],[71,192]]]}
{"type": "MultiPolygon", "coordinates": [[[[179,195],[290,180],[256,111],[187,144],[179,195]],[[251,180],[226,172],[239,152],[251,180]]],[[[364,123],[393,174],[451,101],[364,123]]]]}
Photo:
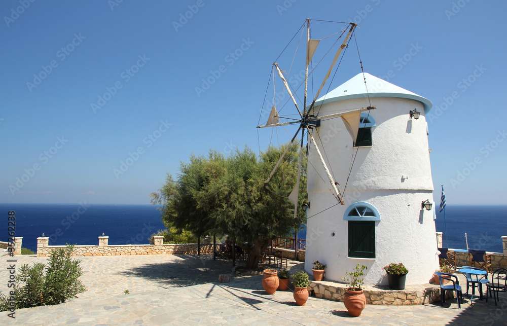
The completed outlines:
{"type": "MultiPolygon", "coordinates": [[[[297,174],[296,186],[295,186],[294,190],[291,192],[291,194],[288,196],[289,200],[291,200],[295,206],[295,209],[294,209],[294,217],[295,218],[297,218],[299,184],[300,184],[300,179],[301,179],[302,160],[303,160],[303,156],[306,156],[306,154],[304,153],[304,150],[303,150],[303,141],[304,141],[305,131],[307,132],[307,135],[308,135],[308,139],[309,139],[308,142],[311,142],[311,144],[313,144],[313,146],[315,148],[315,152],[317,153],[317,155],[319,157],[319,161],[323,167],[323,170],[324,170],[325,174],[327,175],[327,178],[329,180],[328,188],[329,188],[330,192],[336,198],[338,203],[343,205],[344,202],[343,202],[342,194],[340,193],[340,191],[337,187],[337,186],[339,186],[339,184],[334,179],[332,173],[330,172],[330,169],[328,168],[328,165],[326,164],[326,162],[321,154],[319,146],[317,145],[317,142],[315,141],[315,138],[312,135],[312,131],[313,131],[313,129],[316,129],[320,126],[321,121],[340,117],[342,119],[343,123],[345,124],[347,131],[350,133],[353,141],[355,141],[357,138],[357,133],[358,133],[358,129],[359,129],[361,112],[368,111],[368,110],[375,108],[370,105],[367,107],[351,108],[350,110],[341,111],[341,112],[329,114],[329,115],[322,115],[322,116],[318,115],[318,110],[315,112],[315,108],[316,108],[316,106],[318,106],[318,105],[316,105],[316,103],[320,103],[319,105],[322,105],[322,103],[323,103],[323,100],[319,99],[319,94],[322,91],[322,88],[324,87],[326,82],[328,81],[329,77],[331,76],[331,73],[333,72],[333,69],[334,69],[338,59],[340,58],[343,50],[348,47],[349,41],[352,38],[352,35],[353,35],[355,28],[357,26],[354,23],[349,23],[346,29],[342,30],[341,32],[338,32],[341,34],[339,35],[335,44],[339,44],[339,40],[343,37],[343,35],[345,35],[345,33],[346,33],[346,35],[345,35],[341,45],[339,46],[338,50],[336,51],[333,61],[330,65],[329,69],[327,70],[327,74],[323,78],[322,83],[320,84],[320,87],[319,87],[318,91],[316,92],[312,102],[307,106],[308,76],[309,76],[308,69],[309,69],[309,65],[312,61],[312,58],[315,54],[315,51],[317,49],[317,46],[319,45],[319,42],[321,40],[310,39],[310,20],[307,19],[305,24],[307,27],[306,28],[307,32],[306,32],[306,63],[305,63],[305,78],[304,78],[304,85],[305,86],[304,86],[303,109],[301,110],[301,107],[298,104],[298,101],[296,100],[296,98],[294,96],[294,92],[287,82],[284,72],[280,69],[278,63],[273,63],[274,70],[276,70],[276,74],[281,79],[281,81],[284,85],[284,90],[287,91],[290,99],[292,100],[292,102],[296,106],[296,110],[298,112],[298,119],[279,116],[278,111],[277,111],[277,109],[274,105],[274,102],[273,102],[268,121],[266,122],[266,124],[260,125],[257,127],[257,128],[267,128],[267,127],[278,127],[278,126],[288,126],[288,125],[298,126],[296,133],[292,137],[291,141],[288,143],[283,154],[279,158],[278,162],[275,164],[275,167],[273,168],[273,170],[269,174],[268,178],[266,179],[266,181],[264,183],[265,186],[270,182],[271,178],[273,177],[275,172],[278,170],[278,167],[279,167],[280,163],[283,161],[283,158],[285,157],[287,151],[292,146],[292,144],[294,143],[294,141],[298,137],[299,132],[301,131],[301,144],[300,144],[300,149],[299,149],[300,153],[299,153],[299,163],[298,163],[298,174],[297,174]],[[281,119],[288,119],[291,121],[280,122],[280,118],[281,119]]],[[[333,35],[330,35],[330,36],[333,36],[333,35]]],[[[329,51],[328,51],[328,53],[329,53],[329,51]]],[[[320,61],[319,61],[319,63],[320,63],[320,61]]],[[[361,63],[361,69],[362,68],[363,68],[363,66],[361,63]]],[[[313,70],[311,71],[311,73],[313,73],[313,70]]],[[[366,79],[365,79],[365,83],[366,83],[366,79]]],[[[308,159],[308,157],[306,157],[306,158],[308,159]]],[[[324,178],[322,178],[322,180],[324,180],[324,178]]],[[[346,187],[346,185],[345,185],[345,187],[346,187]]]]}

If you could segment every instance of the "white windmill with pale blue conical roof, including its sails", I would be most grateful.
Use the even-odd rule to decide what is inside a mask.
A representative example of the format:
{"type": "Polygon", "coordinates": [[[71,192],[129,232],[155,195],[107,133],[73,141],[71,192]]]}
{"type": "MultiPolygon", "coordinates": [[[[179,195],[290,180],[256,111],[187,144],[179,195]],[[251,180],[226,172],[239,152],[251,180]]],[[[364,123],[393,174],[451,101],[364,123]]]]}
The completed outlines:
{"type": "MultiPolygon", "coordinates": [[[[326,277],[338,281],[360,263],[368,266],[367,283],[386,284],[382,267],[402,262],[410,271],[407,284],[426,283],[438,267],[434,208],[425,211],[421,205],[426,200],[433,202],[424,121],[431,102],[365,73],[319,98],[354,32],[356,26],[351,23],[342,31],[340,37],[346,32],[344,40],[314,99],[307,105],[308,66],[319,42],[310,39],[309,25],[307,20],[303,110],[283,71],[275,63],[276,73],[299,117],[280,122],[283,117],[273,106],[268,122],[259,126],[297,125],[289,146],[300,130],[302,144],[307,132],[308,202],[311,205],[307,213],[305,269],[311,272],[311,263],[319,260],[328,265],[326,277]],[[375,107],[378,110],[371,111],[375,107]],[[421,120],[413,119],[419,115],[421,120]],[[338,117],[341,119],[335,119],[338,117]]],[[[304,155],[301,147],[299,171],[304,155]]],[[[300,172],[289,196],[295,207],[299,181],[300,172]]]]}

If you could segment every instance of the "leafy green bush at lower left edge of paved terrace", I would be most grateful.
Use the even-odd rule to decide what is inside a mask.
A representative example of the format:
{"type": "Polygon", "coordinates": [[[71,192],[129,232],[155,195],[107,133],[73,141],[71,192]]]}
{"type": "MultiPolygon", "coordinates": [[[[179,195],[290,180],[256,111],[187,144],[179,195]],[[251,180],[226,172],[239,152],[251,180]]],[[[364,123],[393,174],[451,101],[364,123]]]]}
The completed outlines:
{"type": "MultiPolygon", "coordinates": [[[[74,245],[56,248],[49,256],[48,265],[35,263],[33,266],[21,265],[14,296],[16,308],[55,305],[67,299],[77,298],[86,291],[79,280],[83,269],[80,260],[71,260],[74,245]]],[[[0,293],[0,311],[9,308],[7,296],[0,293]]]]}

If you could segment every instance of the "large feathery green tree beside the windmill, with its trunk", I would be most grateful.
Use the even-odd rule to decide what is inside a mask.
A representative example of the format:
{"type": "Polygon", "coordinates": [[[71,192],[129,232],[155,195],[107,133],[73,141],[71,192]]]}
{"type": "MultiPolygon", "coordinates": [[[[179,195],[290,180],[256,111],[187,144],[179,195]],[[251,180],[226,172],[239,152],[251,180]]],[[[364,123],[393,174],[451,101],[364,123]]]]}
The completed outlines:
{"type": "Polygon", "coordinates": [[[294,205],[287,199],[297,178],[296,144],[264,184],[284,149],[270,147],[260,159],[248,148],[227,158],[214,151],[207,157],[193,155],[189,163],[181,164],[177,181],[167,176],[160,193],[152,194],[152,202],[163,204],[166,227],[198,236],[228,235],[247,252],[247,268],[256,268],[272,239],[285,236],[304,221],[300,204],[307,198],[305,171],[296,220],[294,205]]]}

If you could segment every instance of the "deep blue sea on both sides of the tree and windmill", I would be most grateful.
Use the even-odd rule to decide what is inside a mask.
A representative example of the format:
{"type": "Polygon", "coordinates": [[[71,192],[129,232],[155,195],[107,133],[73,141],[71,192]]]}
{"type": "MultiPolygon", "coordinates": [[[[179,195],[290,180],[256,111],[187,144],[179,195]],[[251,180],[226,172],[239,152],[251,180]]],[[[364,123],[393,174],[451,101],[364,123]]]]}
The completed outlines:
{"type": "MultiPolygon", "coordinates": [[[[50,237],[50,244],[98,244],[98,236],[109,236],[109,244],[148,244],[151,234],[164,225],[160,206],[105,204],[4,204],[0,213],[0,241],[7,241],[7,212],[16,211],[16,236],[23,237],[23,247],[35,251],[37,237],[50,237]],[[4,239],[5,238],[5,239],[4,239]]],[[[501,236],[507,235],[507,206],[447,205],[444,214],[437,212],[437,231],[444,232],[444,246],[468,247],[502,252],[501,236]],[[448,235],[446,237],[446,228],[448,235]],[[448,240],[448,245],[447,241],[448,240]]],[[[306,230],[298,233],[306,238],[306,230]]]]}

